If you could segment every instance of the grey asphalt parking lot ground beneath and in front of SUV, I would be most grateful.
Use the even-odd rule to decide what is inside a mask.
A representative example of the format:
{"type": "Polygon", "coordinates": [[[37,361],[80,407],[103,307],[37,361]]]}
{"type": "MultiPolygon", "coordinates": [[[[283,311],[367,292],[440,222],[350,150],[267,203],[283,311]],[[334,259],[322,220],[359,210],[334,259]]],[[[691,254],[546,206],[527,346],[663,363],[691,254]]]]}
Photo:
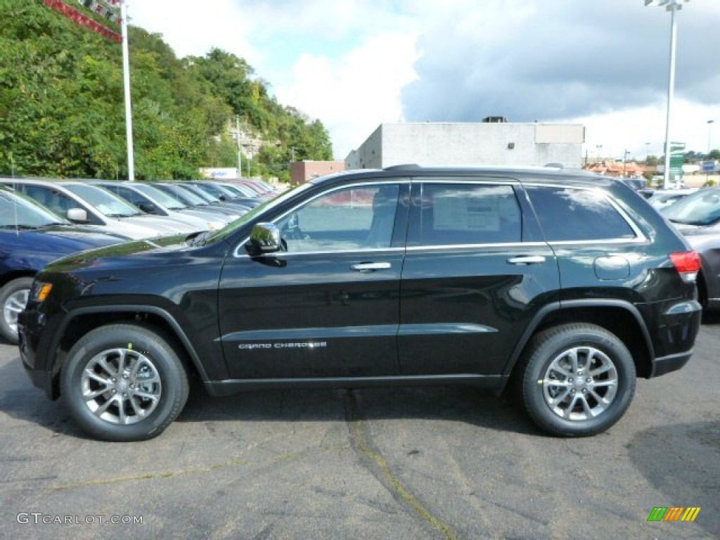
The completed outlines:
{"type": "Polygon", "coordinates": [[[467,387],[196,389],[159,438],[86,438],[0,343],[2,538],[711,539],[720,317],[594,438],[542,435],[467,387]],[[696,520],[649,522],[655,507],[696,520]],[[117,521],[118,523],[112,523],[117,521]]]}

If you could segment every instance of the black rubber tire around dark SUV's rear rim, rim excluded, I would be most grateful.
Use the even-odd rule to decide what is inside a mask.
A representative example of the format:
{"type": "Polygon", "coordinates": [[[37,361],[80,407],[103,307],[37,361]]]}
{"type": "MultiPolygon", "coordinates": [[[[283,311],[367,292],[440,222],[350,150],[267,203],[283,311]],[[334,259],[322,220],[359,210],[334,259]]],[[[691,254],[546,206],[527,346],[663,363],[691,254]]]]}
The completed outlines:
{"type": "Polygon", "coordinates": [[[538,336],[523,376],[523,397],[531,418],[544,430],[559,436],[591,436],[613,426],[630,405],[635,393],[635,364],[628,349],[606,330],[592,325],[568,325],[538,336]],[[545,402],[543,384],[549,365],[569,348],[591,346],[603,351],[618,374],[613,402],[602,414],[590,420],[565,420],[545,402]]]}

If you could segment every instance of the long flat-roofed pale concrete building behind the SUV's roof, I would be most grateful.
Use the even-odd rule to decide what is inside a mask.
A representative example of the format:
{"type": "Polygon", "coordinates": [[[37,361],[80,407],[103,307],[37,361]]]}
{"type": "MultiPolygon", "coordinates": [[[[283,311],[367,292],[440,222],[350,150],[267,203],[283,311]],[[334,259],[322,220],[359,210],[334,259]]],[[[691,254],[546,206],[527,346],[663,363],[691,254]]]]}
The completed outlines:
{"type": "Polygon", "coordinates": [[[585,127],[514,122],[381,124],[346,158],[347,168],[418,165],[582,167],[585,127]]]}

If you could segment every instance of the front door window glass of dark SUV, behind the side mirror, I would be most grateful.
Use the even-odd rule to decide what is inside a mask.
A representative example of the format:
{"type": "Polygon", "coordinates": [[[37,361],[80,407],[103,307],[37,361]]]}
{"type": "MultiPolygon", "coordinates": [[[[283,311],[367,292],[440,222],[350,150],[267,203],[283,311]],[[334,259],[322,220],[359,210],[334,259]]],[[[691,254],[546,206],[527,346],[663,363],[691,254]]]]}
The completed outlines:
{"type": "Polygon", "coordinates": [[[287,251],[356,251],[390,248],[397,184],[337,189],[279,220],[287,251]]]}

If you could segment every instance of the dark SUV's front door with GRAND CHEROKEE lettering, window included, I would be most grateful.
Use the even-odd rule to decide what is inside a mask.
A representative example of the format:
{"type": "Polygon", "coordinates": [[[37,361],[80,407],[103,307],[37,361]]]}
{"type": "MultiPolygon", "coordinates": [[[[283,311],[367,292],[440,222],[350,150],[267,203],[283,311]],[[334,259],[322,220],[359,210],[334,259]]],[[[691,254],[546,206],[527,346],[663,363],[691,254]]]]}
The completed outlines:
{"type": "Polygon", "coordinates": [[[328,188],[275,224],[287,251],[253,258],[240,244],[220,278],[230,376],[394,375],[408,182],[328,188]]]}

